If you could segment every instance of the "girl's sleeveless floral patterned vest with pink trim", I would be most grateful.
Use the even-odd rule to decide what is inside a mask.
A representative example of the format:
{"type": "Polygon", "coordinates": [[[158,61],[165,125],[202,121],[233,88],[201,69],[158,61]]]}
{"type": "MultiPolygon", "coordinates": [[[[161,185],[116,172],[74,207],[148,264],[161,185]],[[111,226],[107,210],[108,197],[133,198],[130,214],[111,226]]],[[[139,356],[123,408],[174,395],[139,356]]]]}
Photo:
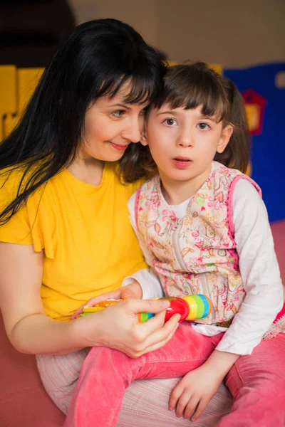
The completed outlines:
{"type": "Polygon", "coordinates": [[[135,202],[138,231],[152,253],[152,267],[165,295],[204,294],[211,314],[197,322],[226,322],[239,310],[245,292],[234,242],[232,198],[239,179],[236,169],[212,162],[207,181],[192,196],[187,213],[177,218],[160,190],[160,176],[138,189],[135,202]]]}

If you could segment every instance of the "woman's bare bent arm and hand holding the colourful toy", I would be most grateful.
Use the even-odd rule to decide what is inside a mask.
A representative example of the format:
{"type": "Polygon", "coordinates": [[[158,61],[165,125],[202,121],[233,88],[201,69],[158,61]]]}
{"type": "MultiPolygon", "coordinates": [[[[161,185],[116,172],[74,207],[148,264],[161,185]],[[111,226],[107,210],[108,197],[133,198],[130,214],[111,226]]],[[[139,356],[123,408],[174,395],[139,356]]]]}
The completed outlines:
{"type": "Polygon", "coordinates": [[[48,317],[41,301],[43,253],[33,246],[0,242],[0,304],[6,333],[19,352],[60,354],[92,346],[138,357],[172,337],[179,315],[164,325],[167,301],[126,300],[70,322],[48,317]],[[139,323],[138,312],[159,313],[139,323]]]}

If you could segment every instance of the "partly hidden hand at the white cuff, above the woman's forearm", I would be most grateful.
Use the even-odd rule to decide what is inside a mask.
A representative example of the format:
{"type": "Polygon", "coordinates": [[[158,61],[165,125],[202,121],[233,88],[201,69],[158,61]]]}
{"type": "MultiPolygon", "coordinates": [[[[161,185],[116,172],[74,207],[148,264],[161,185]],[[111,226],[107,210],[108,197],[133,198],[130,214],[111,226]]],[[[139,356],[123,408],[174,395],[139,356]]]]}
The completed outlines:
{"type": "Polygon", "coordinates": [[[122,288],[113,290],[113,292],[107,292],[102,295],[98,295],[97,297],[93,297],[84,304],[82,304],[76,312],[71,316],[71,320],[76,319],[77,316],[81,315],[83,312],[83,307],[88,305],[89,307],[93,307],[95,304],[98,304],[100,301],[105,300],[123,300],[124,298],[142,298],[142,288],[140,287],[140,283],[137,280],[134,280],[130,285],[123,286],[122,288]]]}

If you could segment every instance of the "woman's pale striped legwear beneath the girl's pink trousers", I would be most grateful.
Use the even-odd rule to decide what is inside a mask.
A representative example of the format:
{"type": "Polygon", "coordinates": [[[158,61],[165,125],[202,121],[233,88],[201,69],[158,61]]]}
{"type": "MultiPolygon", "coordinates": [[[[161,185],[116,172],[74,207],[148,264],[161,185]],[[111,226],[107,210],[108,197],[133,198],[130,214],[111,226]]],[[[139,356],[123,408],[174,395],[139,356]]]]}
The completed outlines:
{"type": "MultiPolygon", "coordinates": [[[[89,349],[70,354],[36,356],[38,371],[48,395],[67,413],[81,367],[89,349]]],[[[180,379],[140,379],[133,381],[125,393],[117,427],[208,427],[214,426],[232,406],[232,395],[224,384],[195,423],[177,418],[168,410],[170,392],[180,379]]]]}

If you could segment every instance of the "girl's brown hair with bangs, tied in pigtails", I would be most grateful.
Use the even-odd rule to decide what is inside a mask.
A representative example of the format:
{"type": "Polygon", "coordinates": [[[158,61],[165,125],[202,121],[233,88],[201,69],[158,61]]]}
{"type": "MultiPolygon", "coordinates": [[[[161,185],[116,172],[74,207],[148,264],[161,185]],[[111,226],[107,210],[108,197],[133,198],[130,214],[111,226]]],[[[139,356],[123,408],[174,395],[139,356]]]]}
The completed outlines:
{"type": "MultiPolygon", "coordinates": [[[[185,110],[202,106],[205,116],[217,115],[223,126],[232,125],[233,133],[224,152],[217,153],[214,160],[227,167],[247,171],[249,164],[249,128],[244,101],[232,80],[217,74],[206,63],[186,63],[167,69],[162,95],[155,101],[155,107],[167,104],[171,109],[184,107],[185,110]]],[[[141,168],[151,176],[157,172],[148,147],[140,147],[141,168]]],[[[133,174],[138,173],[133,170],[133,174]]],[[[140,175],[142,176],[142,175],[140,175]]],[[[131,180],[131,179],[130,179],[131,180]]]]}

